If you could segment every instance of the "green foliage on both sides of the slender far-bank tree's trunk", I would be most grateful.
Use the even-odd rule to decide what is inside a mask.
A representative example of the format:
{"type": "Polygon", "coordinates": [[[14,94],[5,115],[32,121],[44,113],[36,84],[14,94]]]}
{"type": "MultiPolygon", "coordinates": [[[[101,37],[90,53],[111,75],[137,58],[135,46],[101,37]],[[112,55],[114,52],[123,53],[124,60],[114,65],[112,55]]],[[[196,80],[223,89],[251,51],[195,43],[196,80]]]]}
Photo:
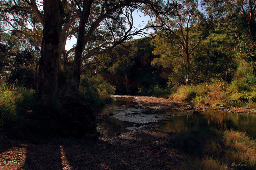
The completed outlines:
{"type": "MultiPolygon", "coordinates": [[[[223,29],[219,25],[203,39],[201,43],[190,54],[189,79],[191,83],[198,83],[212,78],[218,78],[230,82],[236,69],[234,61],[235,53],[233,47],[235,41],[231,36],[224,35],[218,30],[223,29]]],[[[193,35],[190,35],[191,42],[196,42],[193,35]]],[[[171,68],[172,73],[169,76],[173,83],[185,82],[186,58],[185,53],[173,41],[161,37],[155,37],[151,40],[155,46],[153,53],[158,55],[151,63],[158,67],[171,68]]]]}

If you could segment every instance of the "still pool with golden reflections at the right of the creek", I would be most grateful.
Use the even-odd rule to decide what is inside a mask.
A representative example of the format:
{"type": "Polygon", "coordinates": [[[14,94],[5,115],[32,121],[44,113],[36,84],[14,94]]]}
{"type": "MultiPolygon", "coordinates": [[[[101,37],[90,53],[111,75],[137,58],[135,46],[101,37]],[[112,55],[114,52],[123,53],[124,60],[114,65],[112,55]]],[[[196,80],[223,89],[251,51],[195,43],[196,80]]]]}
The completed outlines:
{"type": "Polygon", "coordinates": [[[246,131],[256,138],[256,115],[243,113],[228,113],[216,110],[198,114],[172,117],[171,120],[156,123],[156,129],[166,132],[180,132],[186,129],[214,127],[219,130],[235,129],[246,131]]]}

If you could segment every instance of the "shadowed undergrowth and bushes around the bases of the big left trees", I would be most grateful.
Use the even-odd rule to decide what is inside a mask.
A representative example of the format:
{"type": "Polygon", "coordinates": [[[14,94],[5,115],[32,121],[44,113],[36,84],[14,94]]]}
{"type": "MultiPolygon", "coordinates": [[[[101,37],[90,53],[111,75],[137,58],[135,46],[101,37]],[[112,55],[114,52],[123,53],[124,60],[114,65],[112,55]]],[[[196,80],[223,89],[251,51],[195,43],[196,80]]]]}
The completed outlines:
{"type": "Polygon", "coordinates": [[[101,76],[81,78],[79,101],[50,105],[38,103],[35,91],[5,84],[0,87],[0,130],[10,137],[52,140],[58,137],[83,137],[95,133],[95,115],[111,102],[111,86],[101,76]]]}

